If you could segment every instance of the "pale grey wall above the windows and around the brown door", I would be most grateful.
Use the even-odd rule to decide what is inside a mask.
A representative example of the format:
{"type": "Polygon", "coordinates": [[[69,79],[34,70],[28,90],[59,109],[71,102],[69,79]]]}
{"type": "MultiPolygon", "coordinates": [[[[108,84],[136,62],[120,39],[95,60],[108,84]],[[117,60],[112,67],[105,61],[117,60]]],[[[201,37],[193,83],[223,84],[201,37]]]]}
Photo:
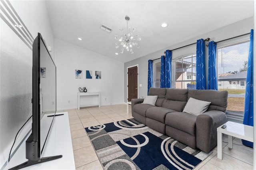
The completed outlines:
{"type": "MultiPolygon", "coordinates": [[[[182,47],[184,45],[195,43],[196,40],[201,39],[201,38],[203,38],[203,39],[210,38],[210,41],[218,42],[221,40],[225,40],[227,38],[232,38],[235,36],[240,36],[242,34],[250,33],[250,30],[254,28],[253,24],[254,24],[254,19],[253,19],[253,17],[250,17],[245,20],[242,20],[242,21],[230,24],[228,26],[219,28],[217,30],[208,32],[207,34],[203,34],[203,35],[193,38],[191,40],[184,41],[182,43],[167,47],[160,51],[156,51],[154,53],[145,55],[138,59],[134,59],[132,61],[126,62],[126,63],[124,63],[124,71],[126,71],[127,67],[129,67],[131,65],[136,65],[136,64],[139,65],[138,84],[142,84],[142,87],[138,87],[139,88],[138,93],[139,93],[139,96],[146,96],[147,91],[148,91],[148,60],[149,59],[160,58],[161,55],[165,55],[164,51],[166,51],[167,49],[172,50],[172,49],[176,49],[178,47],[182,47]]],[[[250,37],[250,35],[248,35],[246,38],[249,38],[249,37],[250,37]]],[[[229,40],[229,41],[222,42],[222,43],[218,43],[217,45],[223,45],[223,43],[236,42],[236,41],[242,40],[242,39],[244,39],[244,37],[229,40]]],[[[206,47],[205,50],[206,50],[205,62],[206,62],[206,68],[207,68],[208,67],[208,47],[206,47]]],[[[172,59],[174,60],[182,55],[190,55],[190,54],[195,54],[195,53],[196,53],[196,44],[172,51],[172,59]]],[[[206,75],[208,75],[207,70],[206,70],[206,75]]],[[[126,99],[127,99],[127,81],[126,81],[126,79],[127,79],[127,74],[126,74],[126,72],[124,72],[124,102],[126,102],[126,99]]]]}

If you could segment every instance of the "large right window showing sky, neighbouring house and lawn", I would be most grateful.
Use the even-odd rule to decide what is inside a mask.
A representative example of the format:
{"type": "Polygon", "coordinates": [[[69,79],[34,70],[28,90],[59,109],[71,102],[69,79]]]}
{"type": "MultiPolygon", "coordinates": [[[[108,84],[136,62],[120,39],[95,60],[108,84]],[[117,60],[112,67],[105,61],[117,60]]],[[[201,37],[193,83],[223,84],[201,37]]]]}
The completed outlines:
{"type": "Polygon", "coordinates": [[[218,47],[218,90],[228,91],[227,113],[243,116],[250,42],[218,47]]]}

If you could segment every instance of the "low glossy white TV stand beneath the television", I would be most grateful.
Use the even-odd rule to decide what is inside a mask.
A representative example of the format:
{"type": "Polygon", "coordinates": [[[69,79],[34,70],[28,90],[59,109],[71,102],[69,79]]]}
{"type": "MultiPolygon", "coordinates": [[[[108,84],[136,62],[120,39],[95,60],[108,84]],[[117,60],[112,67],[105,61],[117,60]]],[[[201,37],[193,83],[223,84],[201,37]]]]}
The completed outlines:
{"type": "MultiPolygon", "coordinates": [[[[28,166],[26,170],[72,170],[75,168],[74,154],[72,148],[72,140],[70,134],[70,126],[68,121],[68,112],[56,113],[54,122],[52,124],[49,136],[47,138],[42,157],[62,155],[62,158],[50,160],[40,164],[28,166]]],[[[41,123],[47,121],[47,116],[53,114],[45,114],[41,123]]],[[[50,121],[52,119],[49,119],[50,121]]],[[[43,125],[41,126],[43,127],[43,125]]],[[[28,135],[29,136],[29,135],[28,135]]],[[[8,170],[14,166],[26,162],[26,140],[18,148],[10,162],[6,165],[4,170],[8,170]]]]}

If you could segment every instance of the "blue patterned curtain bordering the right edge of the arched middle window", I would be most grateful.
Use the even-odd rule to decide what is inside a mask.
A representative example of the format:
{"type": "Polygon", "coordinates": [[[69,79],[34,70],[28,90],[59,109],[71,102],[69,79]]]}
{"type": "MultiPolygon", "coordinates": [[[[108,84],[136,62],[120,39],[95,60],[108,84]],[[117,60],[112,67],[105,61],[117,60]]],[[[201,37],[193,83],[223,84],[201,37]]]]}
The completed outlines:
{"type": "Polygon", "coordinates": [[[196,42],[196,89],[206,89],[204,39],[196,42]]]}

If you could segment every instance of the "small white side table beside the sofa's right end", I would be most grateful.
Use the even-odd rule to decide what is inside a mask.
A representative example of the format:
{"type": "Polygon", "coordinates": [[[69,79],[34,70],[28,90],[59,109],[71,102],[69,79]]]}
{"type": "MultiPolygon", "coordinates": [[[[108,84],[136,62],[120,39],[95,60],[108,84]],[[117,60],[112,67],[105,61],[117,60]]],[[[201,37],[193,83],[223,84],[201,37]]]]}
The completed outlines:
{"type": "Polygon", "coordinates": [[[233,148],[233,136],[236,138],[248,140],[253,142],[253,127],[248,125],[243,125],[241,123],[235,123],[228,121],[223,124],[226,125],[226,128],[221,128],[222,126],[217,128],[217,157],[222,159],[222,136],[223,134],[228,135],[228,148],[233,148]]]}

